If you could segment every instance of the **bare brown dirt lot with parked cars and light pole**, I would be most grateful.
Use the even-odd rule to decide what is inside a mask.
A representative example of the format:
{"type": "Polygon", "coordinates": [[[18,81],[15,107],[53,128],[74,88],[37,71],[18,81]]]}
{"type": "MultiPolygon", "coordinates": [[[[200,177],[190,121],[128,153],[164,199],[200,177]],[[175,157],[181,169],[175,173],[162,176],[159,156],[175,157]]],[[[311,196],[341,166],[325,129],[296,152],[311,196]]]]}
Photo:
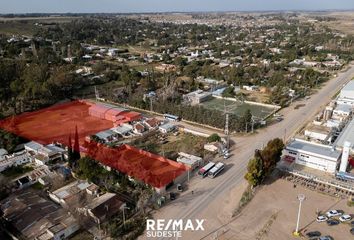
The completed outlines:
{"type": "Polygon", "coordinates": [[[320,231],[322,235],[331,235],[334,239],[353,239],[348,224],[330,227],[326,223],[315,221],[316,211],[342,209],[345,213],[353,214],[354,209],[346,205],[346,200],[332,198],[300,186],[294,188],[285,180],[277,180],[264,186],[241,215],[222,229],[225,234],[219,234],[222,235],[219,239],[297,239],[292,236],[292,232],[296,227],[299,205],[297,195],[300,193],[306,196],[300,221],[303,233],[320,231]]]}

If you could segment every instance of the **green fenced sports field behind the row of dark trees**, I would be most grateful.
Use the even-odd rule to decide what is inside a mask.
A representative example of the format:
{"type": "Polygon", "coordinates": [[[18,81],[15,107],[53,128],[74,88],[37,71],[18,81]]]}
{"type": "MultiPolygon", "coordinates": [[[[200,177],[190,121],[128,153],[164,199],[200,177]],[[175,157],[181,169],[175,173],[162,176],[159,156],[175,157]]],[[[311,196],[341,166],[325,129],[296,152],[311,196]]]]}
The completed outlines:
{"type": "Polygon", "coordinates": [[[221,112],[224,111],[225,109],[224,106],[226,106],[226,109],[229,112],[236,114],[238,116],[242,116],[247,109],[250,109],[252,115],[260,119],[267,117],[274,110],[273,108],[269,108],[269,107],[263,107],[259,105],[252,105],[248,103],[234,102],[230,100],[223,100],[223,99],[216,99],[216,98],[203,102],[201,105],[205,108],[216,109],[221,112]]]}

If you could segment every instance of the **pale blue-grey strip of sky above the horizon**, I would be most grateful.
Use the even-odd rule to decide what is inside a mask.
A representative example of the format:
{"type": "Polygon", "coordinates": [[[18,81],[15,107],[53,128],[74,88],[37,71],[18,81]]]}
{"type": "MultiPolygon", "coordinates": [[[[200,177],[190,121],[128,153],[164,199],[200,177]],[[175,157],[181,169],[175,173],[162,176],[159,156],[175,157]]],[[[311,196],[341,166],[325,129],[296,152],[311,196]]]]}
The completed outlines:
{"type": "Polygon", "coordinates": [[[0,0],[0,13],[354,10],[354,0],[0,0]]]}

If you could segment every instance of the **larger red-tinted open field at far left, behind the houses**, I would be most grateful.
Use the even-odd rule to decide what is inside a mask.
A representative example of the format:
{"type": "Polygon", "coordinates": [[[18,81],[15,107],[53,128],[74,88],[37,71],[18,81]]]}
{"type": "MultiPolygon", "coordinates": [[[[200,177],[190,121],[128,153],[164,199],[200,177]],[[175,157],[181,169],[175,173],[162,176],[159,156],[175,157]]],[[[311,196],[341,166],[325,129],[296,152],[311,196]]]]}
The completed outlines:
{"type": "Polygon", "coordinates": [[[113,127],[110,121],[89,116],[89,107],[90,105],[78,101],[58,104],[7,118],[0,121],[0,127],[43,144],[53,141],[65,144],[70,134],[74,136],[77,126],[80,143],[83,143],[86,136],[113,127]]]}

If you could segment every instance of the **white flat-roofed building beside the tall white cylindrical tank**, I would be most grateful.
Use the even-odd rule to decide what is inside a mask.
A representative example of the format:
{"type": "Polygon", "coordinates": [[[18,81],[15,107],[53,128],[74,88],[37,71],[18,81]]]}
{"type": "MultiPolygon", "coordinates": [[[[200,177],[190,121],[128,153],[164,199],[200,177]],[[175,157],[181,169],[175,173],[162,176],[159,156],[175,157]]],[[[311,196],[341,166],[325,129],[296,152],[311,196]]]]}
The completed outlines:
{"type": "Polygon", "coordinates": [[[341,152],[330,146],[294,139],[286,146],[283,155],[289,162],[334,174],[341,152]]]}

